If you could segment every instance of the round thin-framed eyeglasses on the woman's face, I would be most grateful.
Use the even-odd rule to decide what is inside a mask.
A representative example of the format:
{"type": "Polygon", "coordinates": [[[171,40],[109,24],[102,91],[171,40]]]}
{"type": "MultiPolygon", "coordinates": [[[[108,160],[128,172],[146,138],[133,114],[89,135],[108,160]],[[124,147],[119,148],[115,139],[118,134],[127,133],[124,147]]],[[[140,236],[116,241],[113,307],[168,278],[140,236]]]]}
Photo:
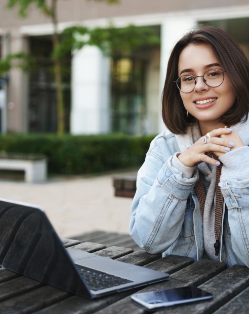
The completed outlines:
{"type": "Polygon", "coordinates": [[[203,75],[192,76],[192,75],[182,75],[178,77],[176,81],[177,87],[183,93],[190,93],[194,90],[197,77],[202,77],[203,82],[210,87],[218,87],[224,81],[224,72],[220,69],[211,69],[206,71],[203,75]]]}

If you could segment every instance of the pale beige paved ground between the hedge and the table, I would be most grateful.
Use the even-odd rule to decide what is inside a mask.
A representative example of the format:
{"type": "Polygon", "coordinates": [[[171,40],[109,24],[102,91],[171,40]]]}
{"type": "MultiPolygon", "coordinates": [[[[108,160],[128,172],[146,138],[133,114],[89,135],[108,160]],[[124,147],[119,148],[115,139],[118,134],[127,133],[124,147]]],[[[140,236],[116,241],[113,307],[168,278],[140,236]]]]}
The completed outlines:
{"type": "Polygon", "coordinates": [[[45,184],[0,181],[0,197],[43,207],[61,237],[93,230],[129,233],[132,199],[114,197],[112,177],[52,178],[45,184]]]}

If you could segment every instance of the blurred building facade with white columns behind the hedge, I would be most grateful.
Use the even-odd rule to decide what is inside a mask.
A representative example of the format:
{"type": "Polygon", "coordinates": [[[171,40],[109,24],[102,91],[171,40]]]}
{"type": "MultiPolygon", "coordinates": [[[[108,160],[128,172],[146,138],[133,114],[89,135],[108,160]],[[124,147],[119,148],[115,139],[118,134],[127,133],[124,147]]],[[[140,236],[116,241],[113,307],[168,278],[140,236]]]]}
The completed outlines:
{"type": "MultiPolygon", "coordinates": [[[[2,131],[56,130],[56,94],[51,64],[50,21],[35,8],[20,18],[17,9],[0,4],[1,56],[20,51],[40,53],[43,67],[31,74],[13,68],[1,80],[7,117],[2,131]]],[[[68,59],[64,73],[66,129],[72,134],[121,131],[131,135],[158,133],[164,126],[160,99],[167,63],[175,42],[198,24],[210,24],[229,32],[249,55],[248,0],[165,1],[120,0],[107,5],[88,0],[58,0],[59,30],[71,25],[116,27],[129,24],[157,27],[160,47],[131,58],[111,60],[96,47],[84,47],[68,59]]],[[[229,49],[229,48],[228,48],[229,49]]],[[[3,120],[3,119],[2,119],[3,120]]],[[[2,121],[1,120],[1,121],[2,121]]]]}

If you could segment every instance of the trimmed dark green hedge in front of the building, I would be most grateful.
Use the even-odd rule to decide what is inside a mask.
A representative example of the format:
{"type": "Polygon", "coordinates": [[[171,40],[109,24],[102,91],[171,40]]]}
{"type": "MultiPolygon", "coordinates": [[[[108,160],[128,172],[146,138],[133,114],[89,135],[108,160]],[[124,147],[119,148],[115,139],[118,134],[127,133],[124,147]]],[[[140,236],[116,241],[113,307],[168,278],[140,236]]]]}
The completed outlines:
{"type": "Polygon", "coordinates": [[[49,173],[97,173],[139,167],[153,137],[6,134],[0,136],[0,151],[44,154],[48,158],[49,173]]]}

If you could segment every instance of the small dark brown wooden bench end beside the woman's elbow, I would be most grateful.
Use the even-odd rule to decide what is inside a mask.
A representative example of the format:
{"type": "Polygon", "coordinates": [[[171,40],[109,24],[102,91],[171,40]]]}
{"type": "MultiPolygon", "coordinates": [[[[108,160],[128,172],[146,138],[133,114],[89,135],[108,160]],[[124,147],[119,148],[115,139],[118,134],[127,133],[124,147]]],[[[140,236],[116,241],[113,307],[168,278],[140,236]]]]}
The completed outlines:
{"type": "Polygon", "coordinates": [[[113,187],[115,196],[134,197],[136,193],[137,174],[130,175],[114,175],[113,187]]]}

